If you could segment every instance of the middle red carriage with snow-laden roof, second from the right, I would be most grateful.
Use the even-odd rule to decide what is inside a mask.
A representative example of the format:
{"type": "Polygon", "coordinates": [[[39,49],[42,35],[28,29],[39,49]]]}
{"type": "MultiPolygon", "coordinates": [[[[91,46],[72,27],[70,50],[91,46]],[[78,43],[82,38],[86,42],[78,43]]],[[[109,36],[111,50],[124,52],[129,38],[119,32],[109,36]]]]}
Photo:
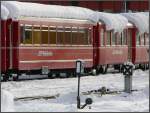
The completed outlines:
{"type": "Polygon", "coordinates": [[[128,20],[119,14],[98,13],[99,22],[94,27],[95,68],[106,73],[108,67],[120,70],[128,61],[128,20]]]}

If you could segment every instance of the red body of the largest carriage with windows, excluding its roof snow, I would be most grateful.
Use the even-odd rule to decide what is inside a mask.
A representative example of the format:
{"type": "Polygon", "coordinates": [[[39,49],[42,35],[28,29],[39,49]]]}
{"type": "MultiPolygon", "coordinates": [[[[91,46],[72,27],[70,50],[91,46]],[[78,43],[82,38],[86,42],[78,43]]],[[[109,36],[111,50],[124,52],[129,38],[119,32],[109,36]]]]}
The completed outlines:
{"type": "MultiPolygon", "coordinates": [[[[69,19],[20,19],[15,22],[14,69],[74,69],[76,59],[93,66],[92,24],[69,19]]],[[[52,73],[51,73],[52,74],[52,73]]]]}

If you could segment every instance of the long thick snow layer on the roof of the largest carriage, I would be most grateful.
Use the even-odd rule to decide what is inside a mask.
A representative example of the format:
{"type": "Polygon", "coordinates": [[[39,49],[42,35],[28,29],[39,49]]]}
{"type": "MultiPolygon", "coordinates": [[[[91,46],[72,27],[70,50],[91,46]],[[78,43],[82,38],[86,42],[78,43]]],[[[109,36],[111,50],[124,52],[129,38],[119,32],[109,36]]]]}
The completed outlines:
{"type": "Polygon", "coordinates": [[[10,17],[18,19],[19,17],[44,17],[44,18],[65,18],[65,19],[83,19],[96,22],[96,14],[94,11],[75,7],[75,6],[59,6],[45,5],[38,3],[3,1],[10,10],[10,17]]]}

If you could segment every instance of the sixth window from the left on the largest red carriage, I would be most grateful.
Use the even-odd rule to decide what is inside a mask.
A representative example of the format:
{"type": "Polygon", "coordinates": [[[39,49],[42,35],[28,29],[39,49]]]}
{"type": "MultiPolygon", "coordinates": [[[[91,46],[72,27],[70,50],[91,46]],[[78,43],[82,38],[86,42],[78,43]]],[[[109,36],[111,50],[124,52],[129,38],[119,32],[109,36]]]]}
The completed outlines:
{"type": "Polygon", "coordinates": [[[71,27],[66,27],[64,31],[64,44],[71,44],[71,27]]]}

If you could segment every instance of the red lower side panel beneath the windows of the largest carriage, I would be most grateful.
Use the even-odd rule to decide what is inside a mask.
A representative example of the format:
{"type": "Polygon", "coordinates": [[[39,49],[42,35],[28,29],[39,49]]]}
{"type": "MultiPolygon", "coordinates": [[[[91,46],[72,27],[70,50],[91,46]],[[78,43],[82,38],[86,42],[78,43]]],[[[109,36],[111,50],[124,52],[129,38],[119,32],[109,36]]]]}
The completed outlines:
{"type": "MultiPolygon", "coordinates": [[[[22,46],[23,47],[23,46],[22,46]]],[[[41,47],[41,46],[40,46],[41,47]]],[[[54,60],[77,60],[77,59],[91,59],[91,61],[85,62],[85,67],[93,66],[93,48],[84,47],[85,49],[72,49],[74,47],[49,47],[49,49],[38,49],[29,47],[24,49],[19,48],[19,70],[32,70],[32,69],[41,69],[42,66],[48,66],[49,69],[66,69],[66,68],[75,68],[75,61],[73,62],[55,62],[54,60]],[[87,48],[87,49],[86,49],[87,48]],[[48,56],[40,56],[39,52],[44,51],[50,53],[48,56]],[[25,57],[27,56],[27,57],[25,57]],[[53,60],[52,62],[44,63],[21,63],[20,61],[35,61],[35,60],[53,60]]]]}

